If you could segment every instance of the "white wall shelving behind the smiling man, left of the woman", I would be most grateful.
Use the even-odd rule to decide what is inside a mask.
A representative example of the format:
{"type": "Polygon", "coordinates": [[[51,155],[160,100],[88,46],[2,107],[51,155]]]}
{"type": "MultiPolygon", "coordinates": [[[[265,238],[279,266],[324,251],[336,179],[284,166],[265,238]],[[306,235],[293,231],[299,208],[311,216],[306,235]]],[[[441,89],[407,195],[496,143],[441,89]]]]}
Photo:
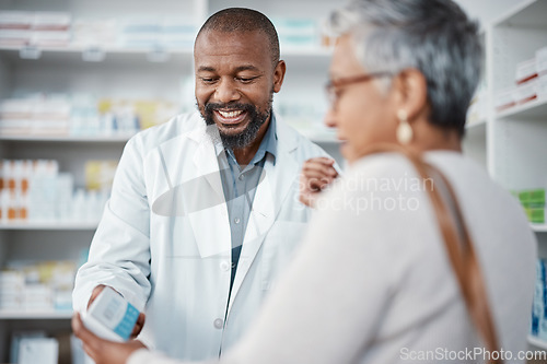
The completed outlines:
{"type": "MultiPolygon", "coordinates": [[[[336,7],[328,0],[299,3],[238,1],[225,3],[217,0],[174,1],[154,3],[129,0],[0,0],[0,10],[63,11],[73,19],[107,19],[113,16],[173,15],[188,20],[199,27],[217,10],[230,5],[257,9],[270,17],[326,16],[336,7]],[[311,10],[312,9],[312,10],[311,10]],[[129,11],[128,11],[129,10],[129,11]]],[[[322,47],[283,47],[281,58],[288,70],[281,93],[276,94],[274,107],[278,115],[299,111],[302,117],[323,124],[326,107],[323,86],[331,50],[322,47]],[[295,102],[296,101],[296,102],[295,102]],[[284,106],[283,106],[284,105],[284,106]]],[[[108,47],[14,47],[0,45],[0,99],[18,93],[43,92],[93,94],[114,99],[162,99],[193,108],[193,49],[144,49],[108,47]],[[85,61],[86,52],[102,54],[102,61],[85,61]],[[25,58],[27,56],[30,58],[25,58]],[[23,56],[23,57],[22,57],[23,56]],[[38,56],[38,57],[36,57],[38,56]],[[36,59],[32,59],[32,58],[36,59]]],[[[338,142],[333,133],[311,132],[310,137],[327,152],[338,155],[338,142]]],[[[84,186],[83,162],[86,160],[117,160],[131,136],[42,136],[1,134],[0,158],[51,158],[59,161],[61,172],[74,175],[74,185],[84,186]]],[[[0,268],[12,259],[69,259],[80,258],[89,247],[96,223],[0,223],[0,268]]],[[[68,329],[68,312],[5,312],[0,310],[0,362],[8,360],[9,338],[21,329],[68,329]]]]}

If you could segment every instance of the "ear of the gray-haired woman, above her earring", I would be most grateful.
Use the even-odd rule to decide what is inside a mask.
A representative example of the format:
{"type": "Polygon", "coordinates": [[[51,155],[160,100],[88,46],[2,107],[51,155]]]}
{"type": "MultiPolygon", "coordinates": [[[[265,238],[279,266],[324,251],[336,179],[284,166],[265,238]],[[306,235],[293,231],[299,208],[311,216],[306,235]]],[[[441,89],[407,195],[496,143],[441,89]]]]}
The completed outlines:
{"type": "Polygon", "coordinates": [[[412,122],[428,108],[428,84],[423,74],[414,68],[405,69],[394,80],[396,109],[403,109],[412,122]]]}

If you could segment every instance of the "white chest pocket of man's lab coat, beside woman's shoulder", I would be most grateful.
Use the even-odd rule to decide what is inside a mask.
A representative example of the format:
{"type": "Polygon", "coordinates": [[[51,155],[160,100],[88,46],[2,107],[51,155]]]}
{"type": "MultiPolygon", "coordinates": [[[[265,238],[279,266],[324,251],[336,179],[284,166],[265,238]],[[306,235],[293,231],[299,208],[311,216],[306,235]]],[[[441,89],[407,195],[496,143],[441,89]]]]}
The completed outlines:
{"type": "Polygon", "coordinates": [[[261,255],[261,287],[271,290],[288,263],[292,260],[295,248],[301,243],[307,223],[276,222],[263,243],[261,255]]]}

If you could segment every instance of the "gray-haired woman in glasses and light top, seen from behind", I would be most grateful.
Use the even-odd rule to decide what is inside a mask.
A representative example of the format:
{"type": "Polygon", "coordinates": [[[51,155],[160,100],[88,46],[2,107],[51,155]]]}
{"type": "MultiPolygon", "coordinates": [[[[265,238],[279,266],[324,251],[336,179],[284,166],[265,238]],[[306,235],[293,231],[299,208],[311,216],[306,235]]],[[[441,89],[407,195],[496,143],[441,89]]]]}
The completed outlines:
{"type": "MultiPolygon", "coordinates": [[[[330,25],[326,122],[351,166],[221,362],[523,362],[535,239],[517,202],[461,152],[476,25],[450,0],[353,1],[330,25]]],[[[97,363],[175,363],[98,339],[78,316],[73,328],[97,363]]]]}

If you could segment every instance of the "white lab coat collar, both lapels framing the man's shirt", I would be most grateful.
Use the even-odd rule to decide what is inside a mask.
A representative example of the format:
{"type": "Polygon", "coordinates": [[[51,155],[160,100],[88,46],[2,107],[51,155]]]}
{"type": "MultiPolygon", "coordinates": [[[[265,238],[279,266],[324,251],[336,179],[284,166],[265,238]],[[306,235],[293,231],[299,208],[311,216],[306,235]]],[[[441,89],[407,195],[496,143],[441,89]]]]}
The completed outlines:
{"type": "MultiPolygon", "coordinates": [[[[268,154],[243,240],[240,263],[230,298],[229,313],[266,234],[276,221],[276,216],[286,200],[287,193],[291,186],[295,181],[298,183],[296,176],[300,165],[292,155],[299,148],[296,133],[279,117],[276,119],[276,128],[278,137],[276,165],[274,166],[272,163],[274,156],[268,154]]],[[[198,249],[202,258],[217,254],[226,254],[231,248],[228,207],[214,149],[214,143],[218,142],[217,138],[220,138],[217,128],[206,127],[205,122],[198,125],[189,133],[189,139],[197,143],[197,149],[193,157],[197,177],[205,176],[212,191],[224,201],[222,206],[190,215],[198,249]],[[203,228],[203,221],[214,221],[217,223],[216,228],[203,228]]]]}

